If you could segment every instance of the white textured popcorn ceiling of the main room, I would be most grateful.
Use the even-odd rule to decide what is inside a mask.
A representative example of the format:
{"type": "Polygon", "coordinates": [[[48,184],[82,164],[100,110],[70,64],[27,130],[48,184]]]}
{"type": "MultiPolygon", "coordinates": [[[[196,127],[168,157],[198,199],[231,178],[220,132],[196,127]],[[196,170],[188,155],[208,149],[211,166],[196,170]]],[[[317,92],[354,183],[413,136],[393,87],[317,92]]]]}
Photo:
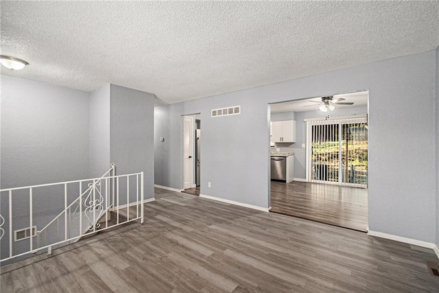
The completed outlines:
{"type": "Polygon", "coordinates": [[[168,103],[436,49],[438,1],[1,1],[13,75],[168,103]]]}

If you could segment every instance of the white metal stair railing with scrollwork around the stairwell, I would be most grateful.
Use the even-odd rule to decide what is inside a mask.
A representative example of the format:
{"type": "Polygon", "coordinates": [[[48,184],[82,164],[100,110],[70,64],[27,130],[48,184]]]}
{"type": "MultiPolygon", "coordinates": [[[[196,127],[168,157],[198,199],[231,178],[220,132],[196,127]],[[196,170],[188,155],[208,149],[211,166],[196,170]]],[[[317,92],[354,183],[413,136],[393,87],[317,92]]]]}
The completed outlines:
{"type": "Polygon", "coordinates": [[[143,224],[143,198],[143,172],[116,176],[113,164],[100,178],[0,189],[0,262],[46,248],[51,255],[52,248],[84,235],[137,220],[143,224]],[[62,211],[54,213],[56,208],[62,211]],[[119,215],[126,220],[119,221],[119,215]],[[17,231],[23,228],[20,240],[17,231]]]}

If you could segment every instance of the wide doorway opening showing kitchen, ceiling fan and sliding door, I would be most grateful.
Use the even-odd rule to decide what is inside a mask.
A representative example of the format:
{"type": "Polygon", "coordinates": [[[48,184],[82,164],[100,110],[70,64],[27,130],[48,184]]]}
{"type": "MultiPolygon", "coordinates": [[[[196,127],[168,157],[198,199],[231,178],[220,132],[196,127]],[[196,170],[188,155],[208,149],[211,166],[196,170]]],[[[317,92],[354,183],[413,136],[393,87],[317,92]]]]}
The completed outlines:
{"type": "Polygon", "coordinates": [[[367,231],[368,91],[271,104],[270,121],[270,211],[367,231]]]}

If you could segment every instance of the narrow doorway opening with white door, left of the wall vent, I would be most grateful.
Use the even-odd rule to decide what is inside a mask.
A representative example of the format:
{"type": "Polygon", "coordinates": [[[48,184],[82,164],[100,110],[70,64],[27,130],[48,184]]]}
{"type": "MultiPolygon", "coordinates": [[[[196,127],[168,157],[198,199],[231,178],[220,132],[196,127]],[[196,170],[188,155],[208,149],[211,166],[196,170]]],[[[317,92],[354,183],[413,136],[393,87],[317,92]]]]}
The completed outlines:
{"type": "Polygon", "coordinates": [[[183,117],[183,192],[200,195],[201,115],[183,117]]]}

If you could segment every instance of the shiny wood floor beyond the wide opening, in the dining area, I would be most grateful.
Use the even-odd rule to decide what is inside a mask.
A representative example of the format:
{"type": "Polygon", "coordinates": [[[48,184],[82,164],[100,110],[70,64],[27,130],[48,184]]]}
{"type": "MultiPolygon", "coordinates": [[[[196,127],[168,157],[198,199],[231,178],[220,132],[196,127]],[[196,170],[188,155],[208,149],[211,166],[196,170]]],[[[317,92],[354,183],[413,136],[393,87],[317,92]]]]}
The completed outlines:
{"type": "Polygon", "coordinates": [[[272,181],[271,187],[274,213],[367,231],[367,189],[299,181],[272,181]]]}

